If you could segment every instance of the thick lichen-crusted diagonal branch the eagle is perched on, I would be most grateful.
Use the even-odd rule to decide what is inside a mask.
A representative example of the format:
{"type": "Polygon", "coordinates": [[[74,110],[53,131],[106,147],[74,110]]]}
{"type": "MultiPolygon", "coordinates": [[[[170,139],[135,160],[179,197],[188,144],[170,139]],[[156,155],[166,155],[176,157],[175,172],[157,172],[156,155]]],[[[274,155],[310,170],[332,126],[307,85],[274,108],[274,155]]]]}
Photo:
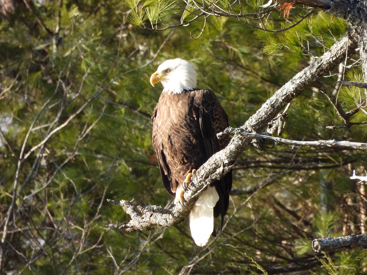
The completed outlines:
{"type": "MultiPolygon", "coordinates": [[[[344,60],[345,55],[355,47],[356,45],[349,40],[347,35],[342,37],[323,56],[312,62],[275,92],[239,131],[261,132],[292,99],[301,94],[305,88],[312,86],[323,74],[337,66],[344,60]]],[[[192,177],[190,190],[184,194],[186,205],[176,205],[172,209],[163,209],[160,206],[138,207],[138,210],[142,213],[142,216],[140,216],[132,202],[123,200],[120,203],[110,201],[123,207],[126,213],[130,215],[131,220],[126,225],[109,224],[107,226],[124,229],[126,232],[133,232],[136,230],[149,230],[153,225],[168,227],[180,223],[190,212],[200,191],[230,170],[230,167],[250,143],[251,139],[251,137],[244,137],[240,134],[234,135],[225,149],[214,154],[197,170],[195,176],[192,177]]]]}

